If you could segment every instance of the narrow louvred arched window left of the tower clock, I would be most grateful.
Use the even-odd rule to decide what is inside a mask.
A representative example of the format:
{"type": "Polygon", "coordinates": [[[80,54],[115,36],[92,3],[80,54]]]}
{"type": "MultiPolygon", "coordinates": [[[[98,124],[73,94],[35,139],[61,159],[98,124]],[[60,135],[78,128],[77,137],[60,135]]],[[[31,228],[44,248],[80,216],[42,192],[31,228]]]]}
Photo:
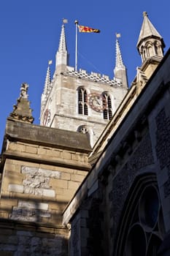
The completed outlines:
{"type": "Polygon", "coordinates": [[[84,88],[78,89],[78,113],[88,116],[88,94],[84,88]]]}

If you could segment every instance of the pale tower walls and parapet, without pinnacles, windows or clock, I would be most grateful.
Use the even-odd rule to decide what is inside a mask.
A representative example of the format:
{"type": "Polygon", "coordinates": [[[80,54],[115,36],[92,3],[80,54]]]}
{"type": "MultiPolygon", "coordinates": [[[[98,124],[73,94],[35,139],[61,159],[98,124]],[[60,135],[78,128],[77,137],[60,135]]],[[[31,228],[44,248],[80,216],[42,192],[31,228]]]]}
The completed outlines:
{"type": "Polygon", "coordinates": [[[50,110],[50,118],[47,124],[49,127],[76,132],[78,127],[86,125],[90,135],[90,145],[93,146],[107,125],[108,120],[104,119],[102,111],[95,111],[90,108],[90,105],[88,105],[88,115],[78,113],[77,91],[80,87],[84,87],[88,94],[109,93],[112,99],[112,113],[115,113],[127,92],[127,88],[117,80],[101,79],[98,75],[87,77],[83,72],[76,72],[75,74],[66,72],[57,75],[44,106],[41,124],[43,124],[45,111],[50,110]]]}

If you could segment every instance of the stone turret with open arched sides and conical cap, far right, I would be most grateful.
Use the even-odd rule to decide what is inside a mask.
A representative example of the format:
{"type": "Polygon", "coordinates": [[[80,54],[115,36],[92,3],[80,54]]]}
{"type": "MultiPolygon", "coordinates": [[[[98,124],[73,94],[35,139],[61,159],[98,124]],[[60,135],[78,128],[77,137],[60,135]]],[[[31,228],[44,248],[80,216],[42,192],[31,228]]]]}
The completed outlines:
{"type": "Polygon", "coordinates": [[[165,47],[163,38],[150,22],[147,12],[143,12],[143,17],[144,20],[137,42],[137,49],[142,57],[142,62],[152,59],[152,57],[155,57],[155,60],[160,62],[163,58],[163,48],[165,47]]]}

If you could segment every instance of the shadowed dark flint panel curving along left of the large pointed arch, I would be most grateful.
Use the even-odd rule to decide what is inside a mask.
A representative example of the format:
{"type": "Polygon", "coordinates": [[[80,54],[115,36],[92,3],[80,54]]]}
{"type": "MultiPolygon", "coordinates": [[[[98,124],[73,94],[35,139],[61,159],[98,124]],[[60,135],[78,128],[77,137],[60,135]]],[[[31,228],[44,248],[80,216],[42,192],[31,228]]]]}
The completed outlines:
{"type": "Polygon", "coordinates": [[[129,157],[127,164],[119,170],[112,180],[112,190],[109,192],[109,217],[112,222],[110,236],[113,240],[118,232],[117,228],[121,221],[121,212],[123,211],[125,199],[131,188],[131,184],[133,184],[135,177],[139,175],[140,170],[152,165],[153,162],[150,135],[147,133],[135,148],[134,153],[129,157]]]}

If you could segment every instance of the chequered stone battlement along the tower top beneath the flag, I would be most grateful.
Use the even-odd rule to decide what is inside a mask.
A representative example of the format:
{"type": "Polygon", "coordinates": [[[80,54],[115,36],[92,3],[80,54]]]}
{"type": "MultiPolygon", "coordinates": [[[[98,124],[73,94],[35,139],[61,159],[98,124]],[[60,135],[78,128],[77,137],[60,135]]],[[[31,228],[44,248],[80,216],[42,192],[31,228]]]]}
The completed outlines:
{"type": "Polygon", "coordinates": [[[69,67],[69,66],[67,66],[66,71],[63,72],[63,75],[70,75],[76,78],[92,80],[98,83],[105,83],[105,84],[108,84],[108,86],[123,85],[120,79],[113,78],[110,80],[108,75],[101,75],[97,72],[90,72],[89,74],[85,69],[80,69],[79,71],[76,71],[74,67],[69,67]]]}

